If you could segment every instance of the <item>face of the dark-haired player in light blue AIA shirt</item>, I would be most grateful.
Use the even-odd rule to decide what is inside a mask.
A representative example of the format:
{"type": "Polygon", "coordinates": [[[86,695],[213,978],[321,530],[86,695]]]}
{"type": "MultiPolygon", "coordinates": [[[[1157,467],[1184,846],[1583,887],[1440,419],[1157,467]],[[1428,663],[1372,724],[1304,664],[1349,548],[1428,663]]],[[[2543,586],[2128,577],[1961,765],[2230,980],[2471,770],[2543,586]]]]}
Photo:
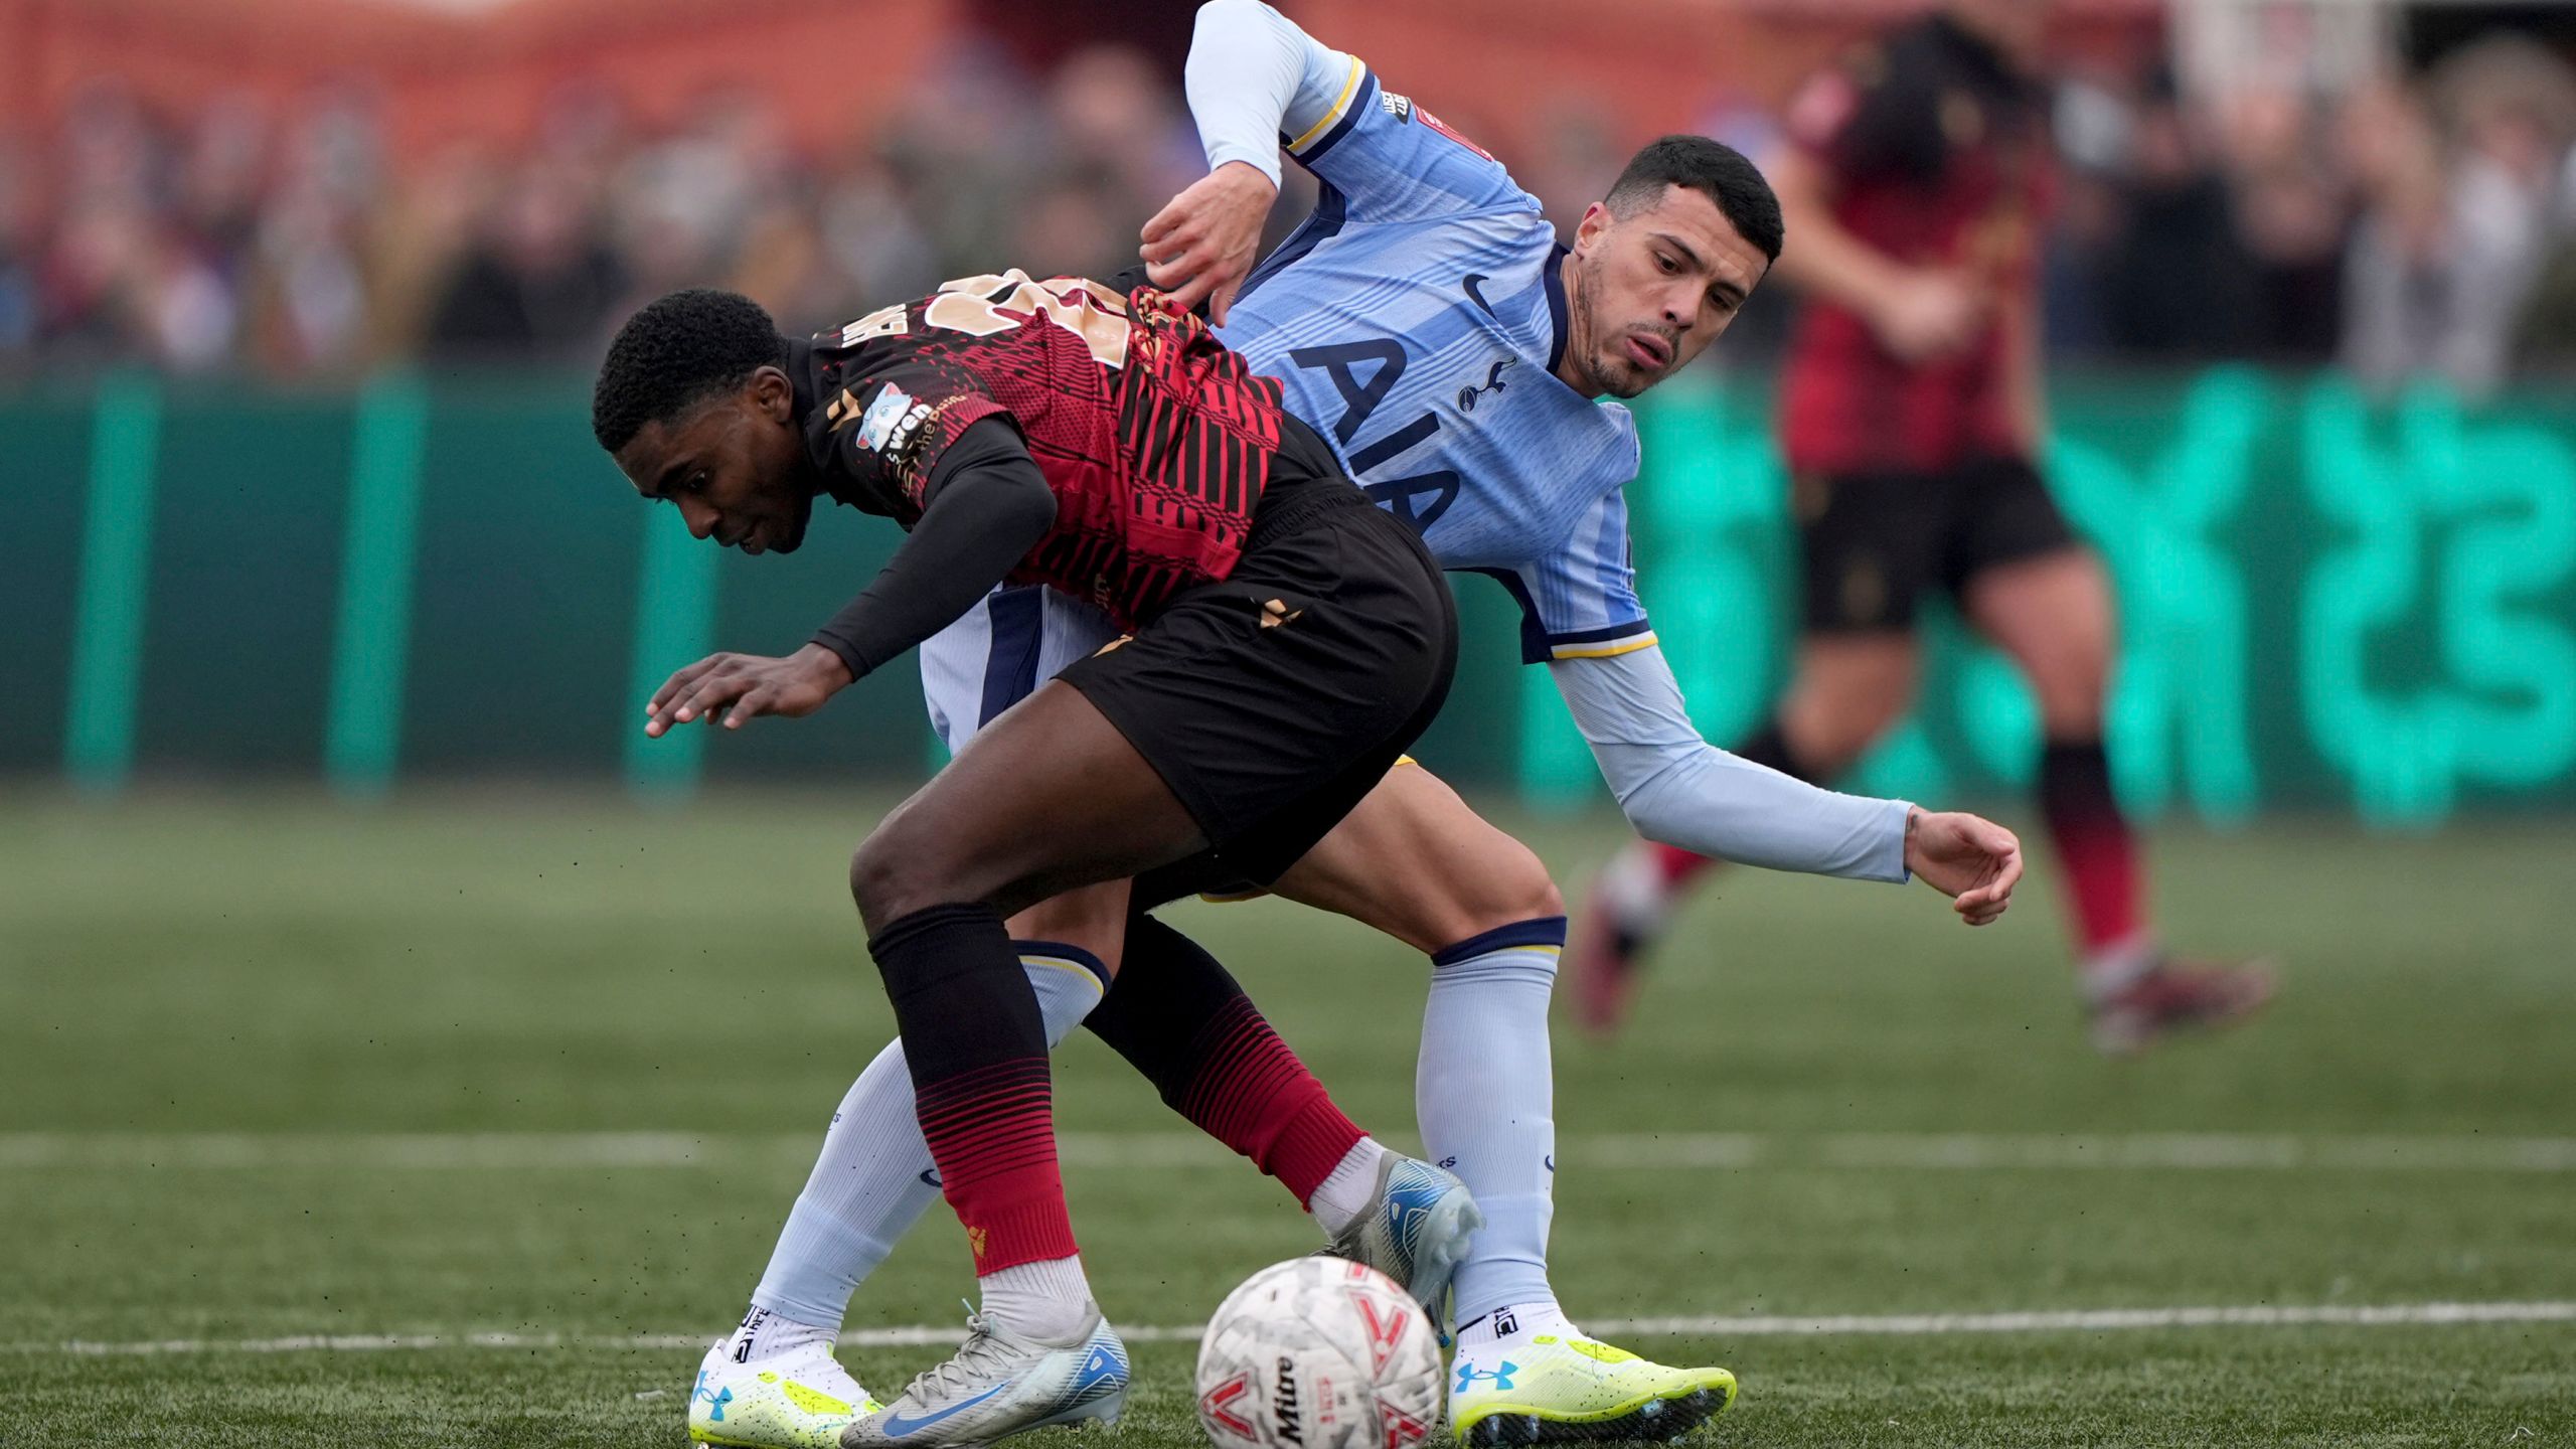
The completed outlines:
{"type": "Polygon", "coordinates": [[[1636,397],[1718,340],[1770,260],[1705,193],[1667,186],[1628,217],[1595,201],[1574,232],[1574,271],[1569,382],[1636,397]]]}

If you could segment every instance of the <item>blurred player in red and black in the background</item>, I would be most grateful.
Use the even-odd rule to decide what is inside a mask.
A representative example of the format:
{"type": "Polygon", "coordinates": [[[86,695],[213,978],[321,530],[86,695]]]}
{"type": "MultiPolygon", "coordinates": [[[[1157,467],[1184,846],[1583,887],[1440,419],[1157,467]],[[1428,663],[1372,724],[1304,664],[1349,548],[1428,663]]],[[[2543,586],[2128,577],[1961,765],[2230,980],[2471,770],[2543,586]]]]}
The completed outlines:
{"type": "MultiPolygon", "coordinates": [[[[2038,696],[2040,815],[2084,1003],[2102,1049],[2128,1052],[2254,1011],[2272,977],[2164,954],[2112,797],[2110,585],[2038,472],[2045,21],[2038,0],[1953,0],[1790,103],[1772,183],[1790,235],[1780,273],[1808,294],[1780,389],[1806,624],[1788,699],[1736,753],[1811,781],[1842,773],[1911,706],[1917,608],[1947,593],[2038,696]]],[[[1620,1024],[1638,951],[1713,864],[1641,841],[1597,877],[1571,967],[1587,1026],[1620,1024]]]]}

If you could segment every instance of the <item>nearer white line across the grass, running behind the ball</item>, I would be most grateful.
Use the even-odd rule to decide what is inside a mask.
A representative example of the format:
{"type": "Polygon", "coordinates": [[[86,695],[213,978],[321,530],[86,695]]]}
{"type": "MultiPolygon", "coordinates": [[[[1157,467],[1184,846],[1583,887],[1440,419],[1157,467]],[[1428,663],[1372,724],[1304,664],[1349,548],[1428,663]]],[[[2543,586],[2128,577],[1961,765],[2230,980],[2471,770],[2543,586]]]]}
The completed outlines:
{"type": "MultiPolygon", "coordinates": [[[[1880,1315],[1708,1315],[1613,1318],[1589,1325],[1605,1338],[1842,1338],[1940,1333],[2117,1333],[2141,1328],[2452,1328],[2468,1323],[2576,1323],[2576,1302],[2396,1302],[2396,1305],[2231,1305],[2231,1307],[2074,1307],[2032,1312],[1880,1312],[1880,1315]]],[[[1128,1343],[1195,1343],[1200,1323],[1121,1325],[1128,1343]]],[[[853,1328],[842,1348],[935,1348],[958,1343],[953,1325],[853,1328]]],[[[330,1333],[304,1338],[162,1338],[142,1343],[0,1343],[0,1354],[149,1359],[160,1354],[404,1354],[428,1348],[611,1348],[701,1351],[714,1333],[330,1333]]]]}

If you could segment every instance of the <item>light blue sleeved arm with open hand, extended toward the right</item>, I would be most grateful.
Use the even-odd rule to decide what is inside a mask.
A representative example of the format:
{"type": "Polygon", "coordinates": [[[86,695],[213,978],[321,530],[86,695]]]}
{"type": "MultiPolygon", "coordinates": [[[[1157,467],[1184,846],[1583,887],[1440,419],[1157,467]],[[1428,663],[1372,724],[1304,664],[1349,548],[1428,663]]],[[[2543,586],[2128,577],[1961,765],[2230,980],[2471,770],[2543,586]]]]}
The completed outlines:
{"type": "Polygon", "coordinates": [[[1556,660],[1548,678],[1638,835],[1777,871],[1917,874],[1984,926],[2022,879],[2012,830],[1976,815],[1816,789],[1700,737],[1664,650],[1556,660]]]}

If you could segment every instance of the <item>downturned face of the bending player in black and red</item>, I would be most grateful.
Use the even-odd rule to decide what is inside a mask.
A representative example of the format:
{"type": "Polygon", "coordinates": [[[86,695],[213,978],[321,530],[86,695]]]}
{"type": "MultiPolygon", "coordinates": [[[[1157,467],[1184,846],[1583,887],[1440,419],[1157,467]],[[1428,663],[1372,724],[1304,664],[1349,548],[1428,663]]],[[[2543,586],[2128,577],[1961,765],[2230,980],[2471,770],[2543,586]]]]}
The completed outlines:
{"type": "Polygon", "coordinates": [[[618,469],[652,500],[667,500],[698,539],[744,554],[791,554],[814,516],[814,464],[796,428],[796,389],[773,366],[742,392],[665,423],[618,449],[618,469]]]}

